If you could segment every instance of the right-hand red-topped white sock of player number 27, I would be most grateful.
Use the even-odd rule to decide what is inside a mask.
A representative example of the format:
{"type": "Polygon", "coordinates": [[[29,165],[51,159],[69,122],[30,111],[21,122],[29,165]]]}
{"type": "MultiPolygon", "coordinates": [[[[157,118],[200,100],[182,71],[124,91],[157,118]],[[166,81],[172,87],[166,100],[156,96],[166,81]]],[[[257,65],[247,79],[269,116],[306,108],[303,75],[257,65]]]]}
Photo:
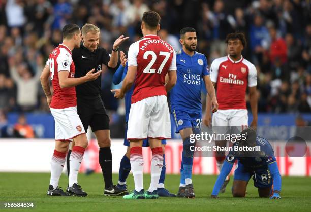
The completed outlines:
{"type": "Polygon", "coordinates": [[[151,160],[151,183],[148,189],[149,192],[157,190],[160,179],[160,174],[163,167],[163,152],[162,147],[155,147],[151,149],[152,160],[151,160]]]}

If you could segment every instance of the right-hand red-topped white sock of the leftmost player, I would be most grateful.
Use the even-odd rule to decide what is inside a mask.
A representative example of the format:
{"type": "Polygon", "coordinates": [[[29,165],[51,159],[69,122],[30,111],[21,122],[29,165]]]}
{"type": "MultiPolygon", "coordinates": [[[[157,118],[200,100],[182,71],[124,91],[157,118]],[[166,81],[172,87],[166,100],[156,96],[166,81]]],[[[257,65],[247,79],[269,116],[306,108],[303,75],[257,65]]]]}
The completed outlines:
{"type": "Polygon", "coordinates": [[[69,158],[70,171],[69,171],[69,187],[74,183],[78,183],[78,172],[82,163],[85,148],[74,146],[69,158]]]}

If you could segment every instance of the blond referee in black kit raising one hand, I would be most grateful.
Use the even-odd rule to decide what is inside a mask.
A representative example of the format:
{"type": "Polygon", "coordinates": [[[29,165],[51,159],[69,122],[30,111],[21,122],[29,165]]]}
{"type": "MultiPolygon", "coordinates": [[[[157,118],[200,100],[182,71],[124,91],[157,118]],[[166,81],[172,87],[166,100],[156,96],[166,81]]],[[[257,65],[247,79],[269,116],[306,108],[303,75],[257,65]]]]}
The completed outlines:
{"type": "MultiPolygon", "coordinates": [[[[118,48],[123,41],[129,37],[120,36],[113,44],[111,56],[101,47],[98,47],[100,40],[100,29],[93,24],[85,24],[82,27],[82,41],[80,48],[72,51],[72,59],[75,64],[75,78],[85,76],[87,70],[95,69],[95,72],[102,70],[102,64],[115,68],[118,62],[118,48]]],[[[106,113],[101,95],[101,77],[76,86],[77,110],[82,121],[85,132],[88,126],[94,132],[99,150],[99,163],[103,171],[105,181],[104,195],[123,195],[127,191],[119,190],[112,182],[112,155],[109,130],[109,117],[106,113]]],[[[69,166],[69,155],[67,166],[69,166]]]]}

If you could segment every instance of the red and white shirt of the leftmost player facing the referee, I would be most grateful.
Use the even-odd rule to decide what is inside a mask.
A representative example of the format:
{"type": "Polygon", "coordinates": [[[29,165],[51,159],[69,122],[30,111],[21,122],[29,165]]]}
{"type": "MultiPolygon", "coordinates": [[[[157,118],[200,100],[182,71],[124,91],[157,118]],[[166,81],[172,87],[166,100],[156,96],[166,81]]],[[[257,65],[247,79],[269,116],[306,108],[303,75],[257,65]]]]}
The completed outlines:
{"type": "Polygon", "coordinates": [[[68,72],[69,78],[75,77],[75,64],[71,57],[71,51],[64,44],[59,44],[50,54],[46,64],[50,67],[50,76],[53,86],[53,96],[50,107],[54,109],[64,109],[77,105],[76,89],[60,88],[58,72],[68,72]]]}

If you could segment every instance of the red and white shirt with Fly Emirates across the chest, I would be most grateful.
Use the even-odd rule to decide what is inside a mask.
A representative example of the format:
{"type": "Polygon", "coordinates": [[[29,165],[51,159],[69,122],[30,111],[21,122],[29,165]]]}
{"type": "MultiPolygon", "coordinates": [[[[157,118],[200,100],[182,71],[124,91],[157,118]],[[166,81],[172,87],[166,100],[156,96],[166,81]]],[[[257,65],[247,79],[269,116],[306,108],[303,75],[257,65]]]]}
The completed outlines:
{"type": "Polygon", "coordinates": [[[215,59],[210,67],[210,78],[216,83],[220,110],[246,109],[246,86],[257,85],[256,68],[243,57],[236,62],[229,55],[215,59]]]}

